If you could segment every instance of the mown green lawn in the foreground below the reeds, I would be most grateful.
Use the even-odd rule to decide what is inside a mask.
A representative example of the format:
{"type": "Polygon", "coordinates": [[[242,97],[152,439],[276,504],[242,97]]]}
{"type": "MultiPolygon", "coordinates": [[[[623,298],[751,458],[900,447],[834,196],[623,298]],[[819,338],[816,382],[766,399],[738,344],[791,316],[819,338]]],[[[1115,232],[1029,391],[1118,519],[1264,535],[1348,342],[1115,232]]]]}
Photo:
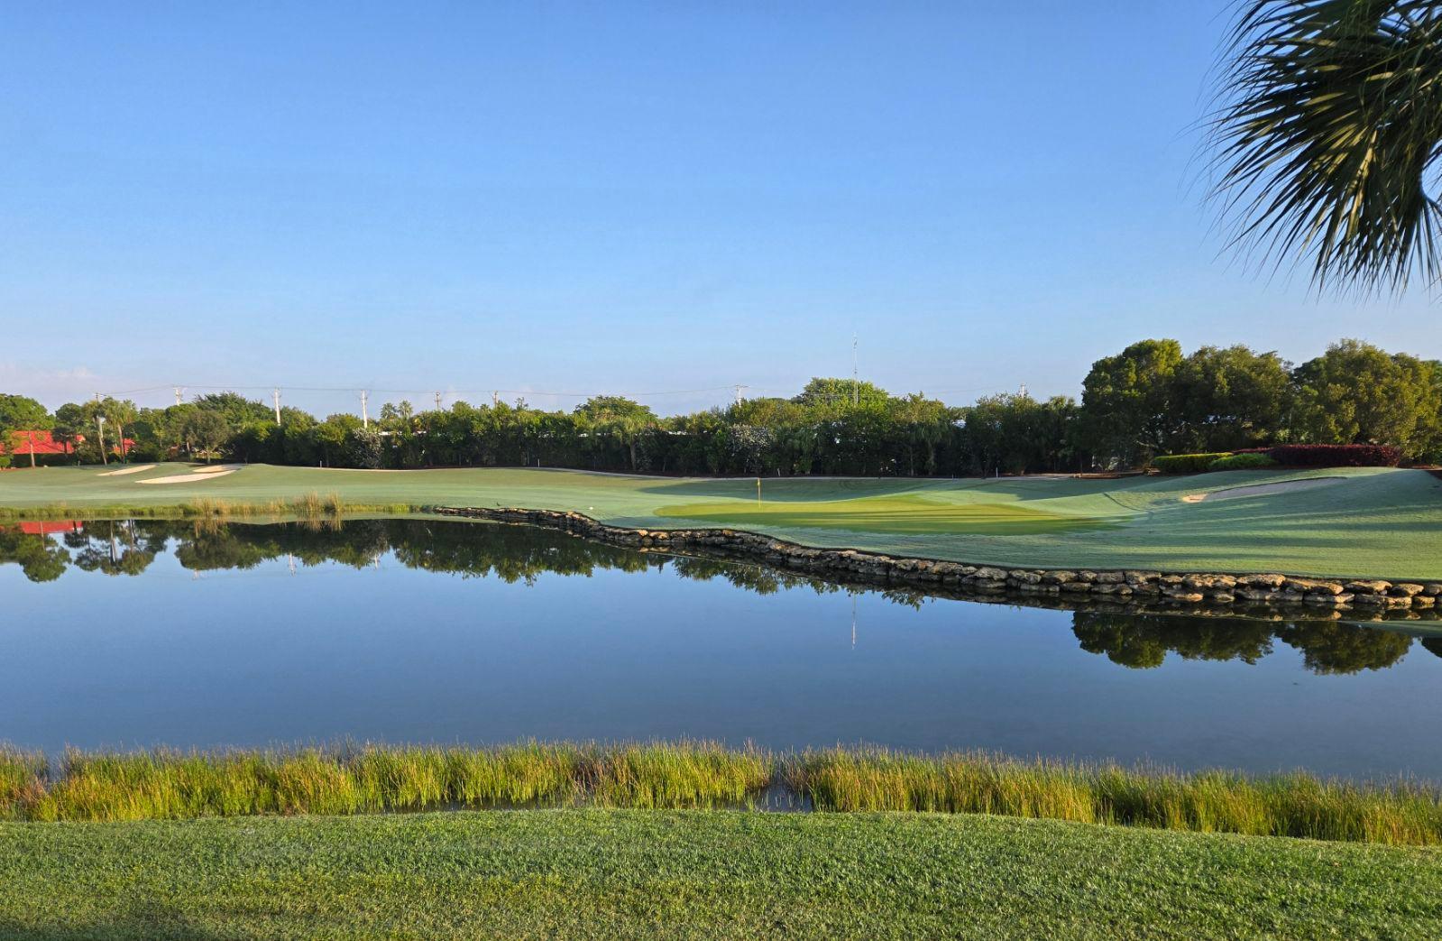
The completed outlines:
{"type": "Polygon", "coordinates": [[[1436,938],[1442,854],[995,817],[0,824],[0,937],[1436,938]]]}

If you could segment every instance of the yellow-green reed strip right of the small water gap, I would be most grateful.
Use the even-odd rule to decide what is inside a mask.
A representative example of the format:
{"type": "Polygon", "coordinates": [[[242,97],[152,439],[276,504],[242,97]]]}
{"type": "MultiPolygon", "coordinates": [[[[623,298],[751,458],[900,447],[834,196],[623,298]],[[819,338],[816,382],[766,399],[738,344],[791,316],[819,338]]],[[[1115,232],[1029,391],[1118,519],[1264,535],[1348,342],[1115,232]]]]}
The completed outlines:
{"type": "Polygon", "coordinates": [[[786,776],[818,810],[828,811],[979,813],[1195,833],[1442,843],[1442,792],[1407,781],[1187,775],[983,752],[924,756],[884,749],[809,752],[789,761],[786,776]]]}

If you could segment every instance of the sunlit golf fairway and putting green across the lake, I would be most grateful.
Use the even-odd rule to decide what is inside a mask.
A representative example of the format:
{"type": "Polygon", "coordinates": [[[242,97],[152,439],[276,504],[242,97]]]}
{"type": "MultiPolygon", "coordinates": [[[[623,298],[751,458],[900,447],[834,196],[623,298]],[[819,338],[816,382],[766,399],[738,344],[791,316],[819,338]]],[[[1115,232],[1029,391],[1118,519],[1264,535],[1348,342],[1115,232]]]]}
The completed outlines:
{"type": "Polygon", "coordinates": [[[307,492],[348,502],[577,509],[622,525],[737,525],[813,546],[1048,567],[1279,570],[1442,579],[1442,479],[1422,470],[1237,470],[1076,481],[675,479],[525,469],[322,470],[249,466],[195,483],[55,468],[0,473],[0,507],[265,502],[307,492]],[[1304,476],[1291,494],[1185,504],[1182,495],[1304,476]]]}

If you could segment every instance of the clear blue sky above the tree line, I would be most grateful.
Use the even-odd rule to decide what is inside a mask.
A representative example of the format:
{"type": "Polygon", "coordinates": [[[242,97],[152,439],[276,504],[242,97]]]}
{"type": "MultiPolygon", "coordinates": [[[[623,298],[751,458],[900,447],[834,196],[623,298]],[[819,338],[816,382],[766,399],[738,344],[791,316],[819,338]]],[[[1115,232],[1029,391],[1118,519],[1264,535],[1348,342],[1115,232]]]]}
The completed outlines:
{"type": "Polygon", "coordinates": [[[956,403],[1076,394],[1145,336],[1442,355],[1422,289],[1224,253],[1195,126],[1226,13],[6,3],[0,390],[676,411],[849,374],[854,333],[956,403]]]}

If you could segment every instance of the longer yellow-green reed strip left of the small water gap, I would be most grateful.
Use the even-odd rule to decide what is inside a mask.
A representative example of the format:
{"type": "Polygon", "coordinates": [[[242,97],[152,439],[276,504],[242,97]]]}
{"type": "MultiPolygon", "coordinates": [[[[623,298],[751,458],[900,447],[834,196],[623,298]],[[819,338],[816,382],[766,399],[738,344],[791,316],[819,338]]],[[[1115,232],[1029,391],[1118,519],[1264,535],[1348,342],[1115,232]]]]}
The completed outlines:
{"type": "Polygon", "coordinates": [[[33,759],[22,761],[20,753],[0,759],[0,800],[9,801],[3,807],[9,807],[10,818],[117,821],[444,807],[744,805],[766,788],[776,765],[773,756],[757,749],[728,750],[705,742],[71,750],[55,776],[33,759]]]}

